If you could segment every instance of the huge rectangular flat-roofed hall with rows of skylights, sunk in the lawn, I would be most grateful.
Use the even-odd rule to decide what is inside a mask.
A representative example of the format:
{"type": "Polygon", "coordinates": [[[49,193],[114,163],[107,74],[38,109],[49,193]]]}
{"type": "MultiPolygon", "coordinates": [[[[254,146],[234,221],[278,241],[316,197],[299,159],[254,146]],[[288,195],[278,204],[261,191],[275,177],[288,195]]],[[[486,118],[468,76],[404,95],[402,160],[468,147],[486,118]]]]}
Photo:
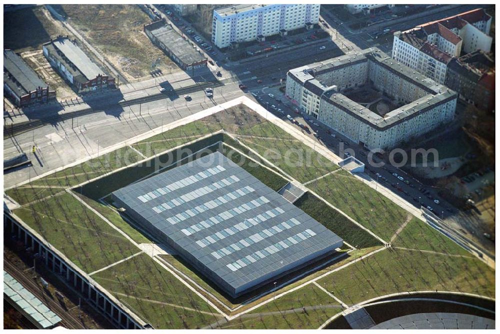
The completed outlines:
{"type": "Polygon", "coordinates": [[[231,297],[342,245],[337,235],[219,152],[121,188],[112,198],[231,297]]]}

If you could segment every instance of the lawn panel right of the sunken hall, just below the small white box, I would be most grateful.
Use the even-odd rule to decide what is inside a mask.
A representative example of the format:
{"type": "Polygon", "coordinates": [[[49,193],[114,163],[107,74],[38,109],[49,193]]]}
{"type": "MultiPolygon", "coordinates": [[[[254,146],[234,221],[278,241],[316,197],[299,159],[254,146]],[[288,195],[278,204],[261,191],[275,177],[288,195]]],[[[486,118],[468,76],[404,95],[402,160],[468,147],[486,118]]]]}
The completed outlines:
{"type": "Polygon", "coordinates": [[[308,187],[387,242],[408,216],[407,211],[343,170],[308,187]]]}

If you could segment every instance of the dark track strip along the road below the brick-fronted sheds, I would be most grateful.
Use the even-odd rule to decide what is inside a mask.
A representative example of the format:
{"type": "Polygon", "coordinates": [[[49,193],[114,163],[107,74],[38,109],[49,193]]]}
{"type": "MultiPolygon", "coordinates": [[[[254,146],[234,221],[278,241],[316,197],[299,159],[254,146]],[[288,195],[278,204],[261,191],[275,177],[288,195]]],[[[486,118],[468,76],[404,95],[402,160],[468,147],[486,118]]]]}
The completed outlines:
{"type": "Polygon", "coordinates": [[[54,121],[62,122],[62,121],[71,119],[73,117],[84,116],[84,115],[92,114],[95,112],[101,112],[101,111],[108,110],[110,108],[117,108],[117,107],[124,108],[124,107],[132,106],[132,105],[136,105],[136,104],[140,104],[140,103],[162,100],[164,98],[175,96],[175,95],[180,96],[180,95],[184,95],[184,94],[188,94],[188,93],[193,93],[193,92],[200,91],[200,90],[203,90],[203,89],[208,88],[208,87],[213,87],[213,88],[221,87],[223,85],[224,84],[220,83],[219,81],[208,81],[208,82],[203,82],[200,84],[195,84],[195,85],[190,85],[190,86],[182,87],[179,89],[175,89],[174,91],[172,91],[170,93],[157,93],[154,95],[137,97],[134,99],[125,100],[125,101],[118,102],[118,103],[104,104],[99,108],[86,108],[86,109],[82,109],[82,110],[78,110],[78,111],[74,111],[74,112],[70,112],[70,113],[66,113],[66,114],[54,115],[54,116],[50,116],[50,117],[34,119],[31,121],[27,121],[27,122],[11,124],[10,126],[4,127],[3,138],[5,139],[5,138],[8,138],[9,136],[12,136],[12,135],[17,135],[17,134],[21,134],[24,132],[28,132],[28,131],[31,131],[33,129],[39,128],[47,123],[54,122],[54,121]]]}

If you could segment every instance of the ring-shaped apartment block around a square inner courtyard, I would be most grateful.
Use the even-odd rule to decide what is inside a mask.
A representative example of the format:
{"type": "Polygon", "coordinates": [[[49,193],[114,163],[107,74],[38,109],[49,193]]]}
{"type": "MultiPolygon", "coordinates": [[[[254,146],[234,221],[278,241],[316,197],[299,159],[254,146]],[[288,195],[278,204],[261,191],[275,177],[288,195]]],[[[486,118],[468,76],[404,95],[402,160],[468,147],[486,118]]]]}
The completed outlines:
{"type": "Polygon", "coordinates": [[[377,48],[288,71],[286,96],[297,108],[368,149],[387,149],[453,119],[456,93],[377,48]],[[342,94],[370,84],[401,107],[380,116],[342,94]]]}

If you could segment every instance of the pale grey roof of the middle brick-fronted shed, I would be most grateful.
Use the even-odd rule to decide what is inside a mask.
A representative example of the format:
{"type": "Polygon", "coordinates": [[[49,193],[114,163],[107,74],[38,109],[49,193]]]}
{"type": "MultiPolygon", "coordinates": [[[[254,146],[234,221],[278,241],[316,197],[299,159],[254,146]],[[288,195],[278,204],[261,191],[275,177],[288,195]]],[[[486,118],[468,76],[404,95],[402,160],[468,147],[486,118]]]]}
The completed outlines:
{"type": "Polygon", "coordinates": [[[105,75],[90,58],[71,40],[68,38],[57,38],[52,41],[57,49],[59,49],[64,56],[78,68],[87,80],[94,79],[97,75],[105,75]]]}

